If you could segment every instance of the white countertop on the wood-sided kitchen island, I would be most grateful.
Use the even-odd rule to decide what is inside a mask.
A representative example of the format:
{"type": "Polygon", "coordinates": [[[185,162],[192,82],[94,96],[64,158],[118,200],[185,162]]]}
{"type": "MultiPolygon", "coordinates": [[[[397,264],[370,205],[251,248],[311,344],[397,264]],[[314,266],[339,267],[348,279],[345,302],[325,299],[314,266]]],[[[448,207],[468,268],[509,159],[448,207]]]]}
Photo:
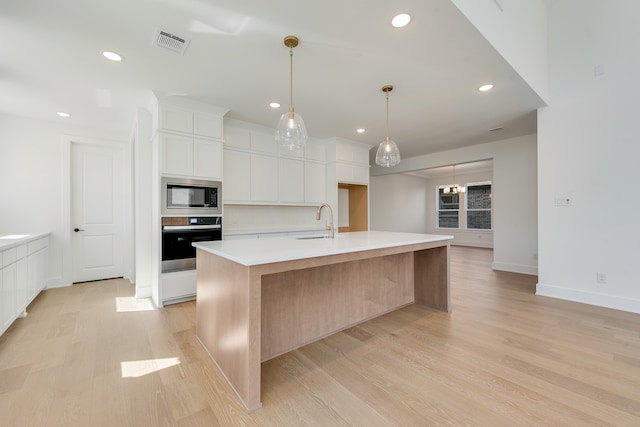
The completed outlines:
{"type": "Polygon", "coordinates": [[[438,234],[388,231],[339,233],[334,239],[308,237],[311,236],[218,240],[193,243],[193,246],[239,264],[252,266],[453,239],[453,236],[438,234]]]}

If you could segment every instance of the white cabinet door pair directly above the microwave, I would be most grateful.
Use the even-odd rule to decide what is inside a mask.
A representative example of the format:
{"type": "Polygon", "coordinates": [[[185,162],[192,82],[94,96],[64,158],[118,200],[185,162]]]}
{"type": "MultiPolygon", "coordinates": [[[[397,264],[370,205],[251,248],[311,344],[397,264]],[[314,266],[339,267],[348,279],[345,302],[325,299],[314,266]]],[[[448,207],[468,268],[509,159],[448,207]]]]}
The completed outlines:
{"type": "Polygon", "coordinates": [[[160,135],[163,175],[222,179],[222,143],[190,136],[160,135]]]}

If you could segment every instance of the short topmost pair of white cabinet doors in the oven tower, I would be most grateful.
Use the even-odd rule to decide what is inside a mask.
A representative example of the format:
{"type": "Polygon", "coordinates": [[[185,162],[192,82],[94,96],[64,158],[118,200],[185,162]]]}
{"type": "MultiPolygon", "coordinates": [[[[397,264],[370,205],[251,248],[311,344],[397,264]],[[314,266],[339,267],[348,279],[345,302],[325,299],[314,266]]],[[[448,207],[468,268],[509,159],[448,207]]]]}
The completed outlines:
{"type": "Polygon", "coordinates": [[[222,140],[222,116],[161,104],[160,129],[222,140]]]}

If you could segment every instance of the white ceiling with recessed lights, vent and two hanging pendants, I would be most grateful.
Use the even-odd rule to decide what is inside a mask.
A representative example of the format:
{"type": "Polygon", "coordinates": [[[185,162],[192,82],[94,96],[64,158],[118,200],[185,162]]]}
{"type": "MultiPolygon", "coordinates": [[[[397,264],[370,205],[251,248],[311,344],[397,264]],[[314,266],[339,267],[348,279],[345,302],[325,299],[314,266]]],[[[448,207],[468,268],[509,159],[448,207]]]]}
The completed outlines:
{"type": "Polygon", "coordinates": [[[58,121],[67,111],[73,125],[127,137],[156,91],[273,128],[289,105],[288,34],[300,38],[294,106],[311,136],[377,145],[386,84],[404,158],[536,131],[542,101],[450,0],[3,1],[0,111],[58,121]],[[402,29],[390,25],[398,11],[413,16],[402,29]],[[190,39],[186,53],[154,46],[157,28],[190,39]],[[494,90],[477,91],[488,82],[494,90]]]}

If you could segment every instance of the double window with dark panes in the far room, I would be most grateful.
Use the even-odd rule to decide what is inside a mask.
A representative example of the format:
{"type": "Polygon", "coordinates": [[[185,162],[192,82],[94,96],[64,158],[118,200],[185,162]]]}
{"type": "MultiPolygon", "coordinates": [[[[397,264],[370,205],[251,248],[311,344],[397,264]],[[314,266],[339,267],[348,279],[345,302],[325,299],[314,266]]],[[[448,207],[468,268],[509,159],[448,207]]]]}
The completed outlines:
{"type": "Polygon", "coordinates": [[[491,230],[491,181],[466,184],[464,193],[445,193],[442,185],[438,191],[438,228],[467,230],[491,230]]]}

